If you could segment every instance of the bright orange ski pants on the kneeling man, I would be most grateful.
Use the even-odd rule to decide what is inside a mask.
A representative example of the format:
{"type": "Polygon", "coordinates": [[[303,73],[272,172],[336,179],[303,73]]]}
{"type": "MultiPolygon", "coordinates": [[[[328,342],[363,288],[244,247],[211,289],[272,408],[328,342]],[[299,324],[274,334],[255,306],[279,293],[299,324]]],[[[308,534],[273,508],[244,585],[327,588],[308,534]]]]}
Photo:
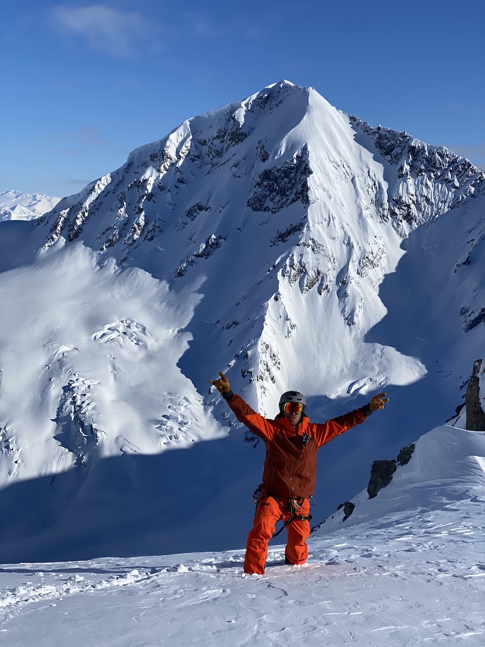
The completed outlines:
{"type": "MultiPolygon", "coordinates": [[[[290,503],[288,499],[277,501],[272,496],[263,497],[257,504],[253,521],[253,529],[248,534],[246,542],[246,555],[244,556],[244,573],[259,573],[263,575],[266,556],[268,555],[268,542],[275,531],[277,521],[288,521],[290,518],[290,503]],[[281,503],[281,506],[280,506],[281,503]],[[283,508],[283,510],[282,510],[283,508]]],[[[310,501],[303,499],[301,509],[297,514],[308,516],[310,514],[310,501]]],[[[285,556],[290,564],[305,564],[308,556],[307,539],[310,536],[310,522],[308,520],[294,520],[286,526],[285,556]]]]}

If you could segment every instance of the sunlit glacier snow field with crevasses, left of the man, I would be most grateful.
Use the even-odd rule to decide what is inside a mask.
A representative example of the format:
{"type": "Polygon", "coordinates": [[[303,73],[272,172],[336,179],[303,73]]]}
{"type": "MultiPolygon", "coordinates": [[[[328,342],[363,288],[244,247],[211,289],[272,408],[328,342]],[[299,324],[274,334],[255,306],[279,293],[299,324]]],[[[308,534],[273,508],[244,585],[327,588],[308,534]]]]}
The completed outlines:
{"type": "MultiPolygon", "coordinates": [[[[19,292],[23,300],[3,316],[10,335],[0,418],[10,442],[36,446],[23,452],[24,479],[83,462],[87,437],[91,459],[217,437],[219,426],[188,380],[180,371],[167,374],[190,338],[178,330],[197,295],[182,305],[163,281],[142,270],[120,273],[113,261],[98,265],[83,245],[58,245],[39,253],[35,270],[4,274],[1,298],[19,292]],[[26,386],[38,396],[26,400],[26,386]],[[74,428],[72,415],[91,431],[74,428]]],[[[1,479],[6,485],[11,477],[3,472],[1,479]]]]}

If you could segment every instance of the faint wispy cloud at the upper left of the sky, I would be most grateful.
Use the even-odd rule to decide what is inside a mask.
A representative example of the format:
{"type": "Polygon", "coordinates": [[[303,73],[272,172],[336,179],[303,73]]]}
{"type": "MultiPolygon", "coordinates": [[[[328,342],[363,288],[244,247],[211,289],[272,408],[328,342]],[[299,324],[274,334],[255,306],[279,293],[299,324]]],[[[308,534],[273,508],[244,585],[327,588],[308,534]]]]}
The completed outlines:
{"type": "Polygon", "coordinates": [[[84,38],[92,49],[114,56],[131,56],[153,34],[153,23],[138,11],[113,9],[106,5],[58,5],[50,14],[51,25],[65,36],[84,38]]]}

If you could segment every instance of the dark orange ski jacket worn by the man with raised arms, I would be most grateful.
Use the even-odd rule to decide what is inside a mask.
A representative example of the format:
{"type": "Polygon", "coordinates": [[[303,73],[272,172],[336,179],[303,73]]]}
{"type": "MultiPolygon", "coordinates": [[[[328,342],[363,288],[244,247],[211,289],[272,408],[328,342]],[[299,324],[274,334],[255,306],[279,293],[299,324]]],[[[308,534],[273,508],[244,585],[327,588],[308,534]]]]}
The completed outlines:
{"type": "Polygon", "coordinates": [[[263,418],[237,394],[226,398],[226,401],[239,422],[266,445],[261,490],[286,499],[312,496],[319,448],[365,421],[371,413],[367,408],[356,409],[323,424],[310,422],[304,415],[295,429],[286,417],[277,416],[274,420],[263,418]],[[303,442],[305,434],[308,434],[307,443],[303,442]]]}

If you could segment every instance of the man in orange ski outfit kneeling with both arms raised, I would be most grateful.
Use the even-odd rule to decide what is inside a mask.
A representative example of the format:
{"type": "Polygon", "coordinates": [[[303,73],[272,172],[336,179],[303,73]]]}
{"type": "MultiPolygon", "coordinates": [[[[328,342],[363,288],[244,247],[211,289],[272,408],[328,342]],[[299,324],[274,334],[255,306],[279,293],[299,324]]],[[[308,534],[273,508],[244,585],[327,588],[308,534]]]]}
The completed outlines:
{"type": "Polygon", "coordinates": [[[274,420],[268,420],[232,392],[224,373],[219,375],[219,380],[209,380],[210,384],[221,393],[239,422],[266,445],[263,483],[259,487],[261,494],[253,529],[246,543],[244,573],[264,573],[268,542],[279,520],[285,523],[287,533],[285,564],[305,564],[310,536],[310,496],[315,489],[319,448],[365,421],[372,411],[383,409],[389,399],[383,400],[386,394],[380,393],[360,409],[324,424],[315,424],[305,413],[305,397],[298,391],[286,391],[279,400],[279,414],[274,420]]]}

